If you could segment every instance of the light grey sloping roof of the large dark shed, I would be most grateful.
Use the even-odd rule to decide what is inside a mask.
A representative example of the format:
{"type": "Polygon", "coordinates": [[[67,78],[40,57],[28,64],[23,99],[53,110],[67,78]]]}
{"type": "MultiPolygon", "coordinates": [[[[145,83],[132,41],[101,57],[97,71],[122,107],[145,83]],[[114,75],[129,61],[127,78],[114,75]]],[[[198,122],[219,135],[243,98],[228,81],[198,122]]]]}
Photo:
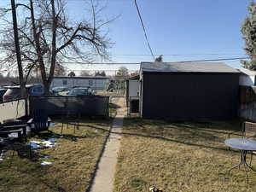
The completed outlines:
{"type": "Polygon", "coordinates": [[[142,62],[141,70],[151,73],[239,73],[222,62],[142,62]]]}

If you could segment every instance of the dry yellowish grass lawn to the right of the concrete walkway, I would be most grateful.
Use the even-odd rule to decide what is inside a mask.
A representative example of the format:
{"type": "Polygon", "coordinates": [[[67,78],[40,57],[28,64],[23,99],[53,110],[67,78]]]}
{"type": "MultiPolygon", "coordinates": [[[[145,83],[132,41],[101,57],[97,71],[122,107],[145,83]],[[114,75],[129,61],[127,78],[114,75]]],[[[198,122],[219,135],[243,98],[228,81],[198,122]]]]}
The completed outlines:
{"type": "Polygon", "coordinates": [[[114,192],[146,192],[154,184],[164,192],[256,191],[256,173],[248,172],[248,185],[242,169],[228,174],[240,154],[229,151],[224,139],[240,129],[238,120],[168,123],[127,118],[114,192]]]}

